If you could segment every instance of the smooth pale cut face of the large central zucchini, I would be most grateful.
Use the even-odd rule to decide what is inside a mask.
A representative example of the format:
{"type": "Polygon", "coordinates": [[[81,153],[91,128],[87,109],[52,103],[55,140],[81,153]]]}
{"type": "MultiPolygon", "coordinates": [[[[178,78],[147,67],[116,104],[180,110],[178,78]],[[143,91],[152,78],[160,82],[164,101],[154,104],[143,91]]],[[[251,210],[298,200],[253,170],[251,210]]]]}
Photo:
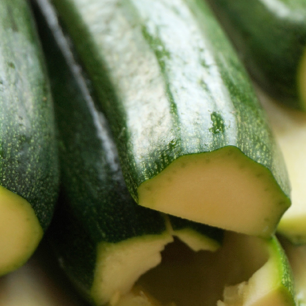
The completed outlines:
{"type": "Polygon", "coordinates": [[[290,206],[270,171],[234,146],[177,158],[138,195],[141,206],[261,237],[290,206]]]}

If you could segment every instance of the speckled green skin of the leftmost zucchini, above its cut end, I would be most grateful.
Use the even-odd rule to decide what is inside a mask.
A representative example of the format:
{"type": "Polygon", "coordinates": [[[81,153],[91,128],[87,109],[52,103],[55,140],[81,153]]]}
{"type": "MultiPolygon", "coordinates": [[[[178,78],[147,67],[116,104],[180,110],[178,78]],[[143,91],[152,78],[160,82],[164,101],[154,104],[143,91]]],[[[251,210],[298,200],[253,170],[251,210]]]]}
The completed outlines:
{"type": "Polygon", "coordinates": [[[58,196],[52,99],[27,1],[0,3],[0,185],[22,196],[46,230],[58,196]]]}

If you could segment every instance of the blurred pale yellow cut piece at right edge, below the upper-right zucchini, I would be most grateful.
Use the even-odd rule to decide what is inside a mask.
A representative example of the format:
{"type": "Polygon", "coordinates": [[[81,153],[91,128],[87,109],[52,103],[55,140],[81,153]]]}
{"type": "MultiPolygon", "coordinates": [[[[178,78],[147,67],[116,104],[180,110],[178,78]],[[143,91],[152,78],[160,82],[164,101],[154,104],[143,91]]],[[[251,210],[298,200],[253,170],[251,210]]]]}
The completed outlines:
{"type": "Polygon", "coordinates": [[[282,148],[292,187],[292,206],[277,231],[292,243],[306,243],[306,115],[261,98],[275,137],[282,148]]]}

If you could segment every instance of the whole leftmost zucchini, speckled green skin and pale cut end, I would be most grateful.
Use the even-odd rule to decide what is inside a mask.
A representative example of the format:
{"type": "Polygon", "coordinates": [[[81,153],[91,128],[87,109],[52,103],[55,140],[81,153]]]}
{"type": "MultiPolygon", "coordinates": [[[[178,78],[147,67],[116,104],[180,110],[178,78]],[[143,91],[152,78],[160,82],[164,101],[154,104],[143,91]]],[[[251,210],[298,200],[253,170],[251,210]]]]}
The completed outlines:
{"type": "Polygon", "coordinates": [[[0,2],[0,275],[25,263],[58,195],[54,114],[27,1],[0,2]]]}

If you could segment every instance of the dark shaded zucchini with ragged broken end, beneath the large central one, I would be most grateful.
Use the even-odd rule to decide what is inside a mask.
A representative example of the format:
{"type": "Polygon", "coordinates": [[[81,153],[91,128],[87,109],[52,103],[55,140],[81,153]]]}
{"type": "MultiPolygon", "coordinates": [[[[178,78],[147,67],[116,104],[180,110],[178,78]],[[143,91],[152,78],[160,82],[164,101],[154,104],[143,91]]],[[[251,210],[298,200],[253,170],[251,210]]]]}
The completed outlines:
{"type": "Polygon", "coordinates": [[[61,205],[50,240],[81,293],[97,305],[112,303],[160,263],[160,251],[172,235],[194,248],[215,250],[222,233],[171,216],[166,222],[159,212],[137,205],[126,188],[107,121],[95,107],[55,12],[47,1],[37,3],[62,170],[61,205]]]}

